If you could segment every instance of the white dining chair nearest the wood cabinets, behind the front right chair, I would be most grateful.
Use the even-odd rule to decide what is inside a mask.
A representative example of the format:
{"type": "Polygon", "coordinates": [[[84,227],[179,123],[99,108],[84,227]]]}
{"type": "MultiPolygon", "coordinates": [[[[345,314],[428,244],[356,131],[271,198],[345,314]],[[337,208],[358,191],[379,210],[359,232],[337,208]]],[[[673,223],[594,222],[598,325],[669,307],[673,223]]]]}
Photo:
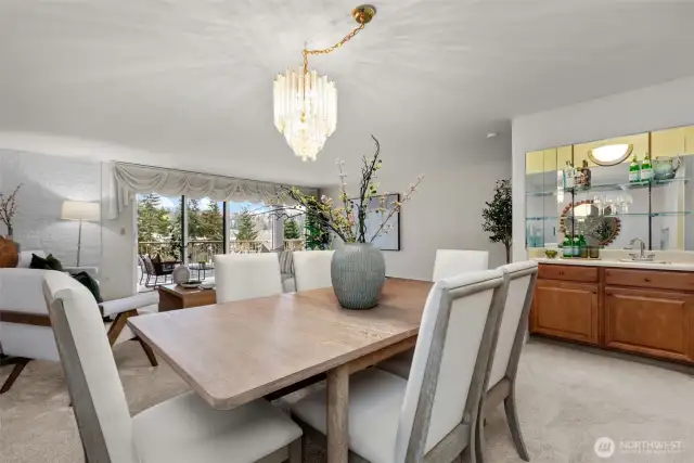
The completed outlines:
{"type": "MultiPolygon", "coordinates": [[[[503,401],[511,437],[518,456],[530,461],[528,450],[520,433],[520,423],[516,411],[515,384],[520,351],[525,345],[525,333],[528,326],[532,294],[538,278],[538,263],[531,260],[509,263],[500,267],[509,281],[509,295],[503,309],[496,339],[496,348],[491,357],[492,366],[489,373],[487,395],[483,399],[478,423],[484,423],[487,412],[503,401]]],[[[478,463],[484,461],[484,426],[478,433],[478,463]]]]}

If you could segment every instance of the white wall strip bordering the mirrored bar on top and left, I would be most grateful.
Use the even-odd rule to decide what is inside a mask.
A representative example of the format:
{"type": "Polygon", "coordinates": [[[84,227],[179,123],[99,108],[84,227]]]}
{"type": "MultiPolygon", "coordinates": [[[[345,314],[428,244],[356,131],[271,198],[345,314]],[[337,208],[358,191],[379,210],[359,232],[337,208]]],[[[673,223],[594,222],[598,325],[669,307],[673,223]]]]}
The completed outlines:
{"type": "Polygon", "coordinates": [[[694,124],[694,76],[512,121],[513,258],[525,250],[525,153],[694,124]]]}

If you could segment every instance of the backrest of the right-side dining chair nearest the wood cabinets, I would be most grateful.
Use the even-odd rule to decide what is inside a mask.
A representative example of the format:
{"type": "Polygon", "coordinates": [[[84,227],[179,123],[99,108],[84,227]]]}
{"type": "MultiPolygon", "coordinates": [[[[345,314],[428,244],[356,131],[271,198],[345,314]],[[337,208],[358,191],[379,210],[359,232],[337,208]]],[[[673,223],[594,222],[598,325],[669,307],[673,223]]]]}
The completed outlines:
{"type": "Polygon", "coordinates": [[[489,388],[506,376],[515,378],[538,278],[538,263],[531,260],[509,263],[499,269],[509,280],[509,295],[496,339],[489,388]]]}

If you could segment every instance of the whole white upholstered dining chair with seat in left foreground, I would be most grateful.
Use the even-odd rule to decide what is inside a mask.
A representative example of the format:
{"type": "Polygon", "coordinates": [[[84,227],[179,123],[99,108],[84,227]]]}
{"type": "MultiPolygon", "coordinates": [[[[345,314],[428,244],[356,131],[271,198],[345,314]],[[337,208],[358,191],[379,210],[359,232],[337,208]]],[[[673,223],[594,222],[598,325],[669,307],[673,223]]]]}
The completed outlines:
{"type": "Polygon", "coordinates": [[[54,271],[43,293],[87,462],[300,463],[301,429],[265,400],[218,411],[188,393],[131,417],[91,294],[54,271]]]}

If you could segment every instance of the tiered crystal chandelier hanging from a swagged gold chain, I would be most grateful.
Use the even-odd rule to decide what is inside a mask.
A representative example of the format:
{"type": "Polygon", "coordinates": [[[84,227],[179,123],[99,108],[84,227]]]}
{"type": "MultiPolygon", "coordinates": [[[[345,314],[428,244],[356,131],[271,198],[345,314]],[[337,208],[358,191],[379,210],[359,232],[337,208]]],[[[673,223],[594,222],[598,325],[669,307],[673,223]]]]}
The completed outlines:
{"type": "Polygon", "coordinates": [[[309,54],[329,54],[351,40],[376,14],[372,5],[352,11],[359,26],[339,42],[323,50],[304,49],[304,68],[286,70],[274,79],[274,126],[301,160],[316,160],[327,137],[337,127],[337,90],[335,82],[316,70],[308,70],[309,54]]]}

